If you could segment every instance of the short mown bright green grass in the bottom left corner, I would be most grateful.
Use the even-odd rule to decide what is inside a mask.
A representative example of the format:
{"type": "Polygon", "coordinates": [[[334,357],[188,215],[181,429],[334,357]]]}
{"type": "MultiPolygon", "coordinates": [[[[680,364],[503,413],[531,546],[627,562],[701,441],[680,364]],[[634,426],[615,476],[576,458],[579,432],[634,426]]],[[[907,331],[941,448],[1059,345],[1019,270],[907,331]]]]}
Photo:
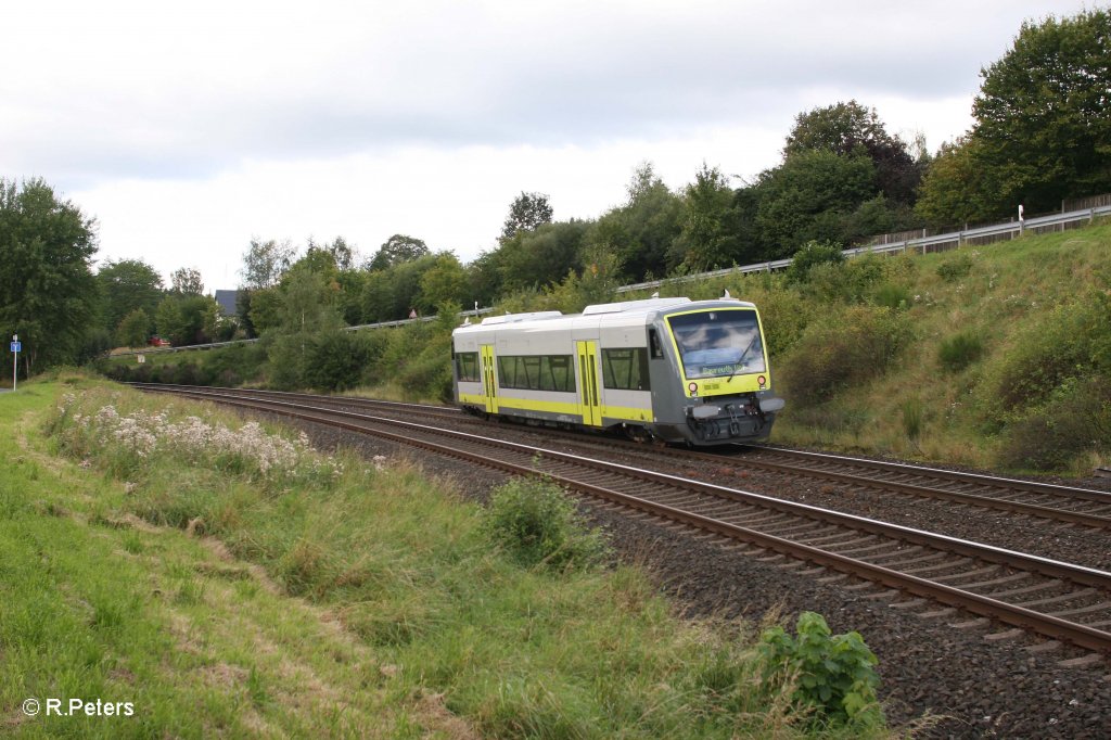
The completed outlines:
{"type": "Polygon", "coordinates": [[[419,721],[364,681],[374,657],[319,608],[129,517],[122,484],[49,454],[37,429],[57,391],[0,397],[0,733],[391,737],[419,721]],[[32,718],[30,698],[133,714],[32,718]]]}

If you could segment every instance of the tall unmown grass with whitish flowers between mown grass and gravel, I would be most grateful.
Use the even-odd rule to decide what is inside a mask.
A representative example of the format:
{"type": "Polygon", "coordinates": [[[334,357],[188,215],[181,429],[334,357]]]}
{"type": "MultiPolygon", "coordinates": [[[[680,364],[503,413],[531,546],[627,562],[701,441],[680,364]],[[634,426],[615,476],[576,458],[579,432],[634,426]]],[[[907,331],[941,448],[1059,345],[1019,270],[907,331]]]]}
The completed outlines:
{"type": "MultiPolygon", "coordinates": [[[[263,472],[250,457],[229,464],[219,436],[196,457],[163,446],[168,430],[190,418],[229,429],[241,423],[98,389],[60,403],[47,429],[74,461],[127,487],[111,504],[98,504],[101,518],[137,514],[203,532],[261,566],[282,592],[336,614],[380,667],[364,680],[410,714],[438,697],[441,713],[491,736],[882,734],[874,713],[838,728],[807,727],[788,702],[755,687],[752,630],[677,620],[643,572],[593,567],[602,549],[589,546],[578,550],[583,557],[557,562],[575,551],[572,544],[600,541],[573,516],[570,537],[539,538],[548,549],[538,566],[507,557],[504,540],[496,547],[494,532],[504,531],[497,511],[463,503],[449,482],[429,482],[411,463],[324,459],[298,448],[286,472],[263,472]],[[100,413],[106,402],[114,417],[100,413]],[[143,420],[137,423],[157,437],[149,452],[139,453],[148,447],[134,436],[117,434],[119,419],[143,420]],[[89,439],[97,443],[82,443],[89,439]]],[[[180,608],[210,599],[211,587],[177,582],[180,608]]],[[[270,711],[280,693],[272,678],[242,678],[257,711],[270,711]]]]}

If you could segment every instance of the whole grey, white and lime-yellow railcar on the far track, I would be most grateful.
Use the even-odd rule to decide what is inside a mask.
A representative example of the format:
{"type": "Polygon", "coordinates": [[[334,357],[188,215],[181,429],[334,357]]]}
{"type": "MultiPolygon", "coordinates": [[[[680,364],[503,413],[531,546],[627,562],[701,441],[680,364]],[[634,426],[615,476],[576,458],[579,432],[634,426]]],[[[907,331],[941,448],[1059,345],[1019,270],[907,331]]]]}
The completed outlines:
{"type": "Polygon", "coordinates": [[[732,298],[490,317],[452,332],[454,398],[484,417],[634,439],[760,441],[783,408],[765,348],[757,307],[732,298]]]}

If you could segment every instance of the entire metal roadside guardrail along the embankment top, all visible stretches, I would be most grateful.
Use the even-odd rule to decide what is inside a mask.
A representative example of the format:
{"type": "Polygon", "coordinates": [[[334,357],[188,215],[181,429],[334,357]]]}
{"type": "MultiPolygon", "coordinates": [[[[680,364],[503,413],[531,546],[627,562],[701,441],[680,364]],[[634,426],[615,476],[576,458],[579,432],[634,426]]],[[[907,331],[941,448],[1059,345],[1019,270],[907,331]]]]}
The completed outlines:
{"type": "MultiPolygon", "coordinates": [[[[869,244],[867,247],[854,247],[853,249],[845,249],[841,253],[847,258],[859,257],[861,254],[890,254],[892,252],[907,252],[907,251],[918,251],[921,249],[922,253],[927,253],[931,247],[940,247],[942,244],[953,244],[958,247],[970,242],[972,240],[979,239],[992,239],[999,241],[1002,238],[1013,239],[1017,236],[1021,236],[1027,231],[1042,232],[1057,227],[1062,229],[1070,223],[1079,223],[1081,221],[1088,221],[1091,223],[1097,218],[1103,218],[1111,216],[1111,206],[1098,206],[1095,208],[1085,208],[1079,211],[1070,211],[1068,213],[1052,213],[1050,216],[1040,216],[1038,218],[1025,219],[1024,221],[1011,221],[1008,223],[997,223],[994,226],[978,227],[974,229],[962,229],[960,231],[952,231],[950,233],[940,233],[932,237],[919,237],[915,239],[903,239],[900,241],[892,241],[885,244],[869,244]]],[[[669,282],[690,282],[691,280],[708,280],[711,278],[721,278],[727,274],[733,273],[750,273],[750,272],[771,272],[772,270],[782,270],[784,268],[791,267],[792,259],[782,260],[771,260],[769,262],[755,262],[753,264],[744,264],[741,267],[724,268],[721,270],[711,270],[710,272],[699,272],[698,274],[688,274],[679,278],[665,278],[663,280],[651,280],[649,282],[638,282],[632,286],[621,286],[617,289],[618,293],[630,293],[637,290],[647,290],[649,288],[659,288],[664,283],[669,282]]],[[[460,317],[479,317],[487,313],[492,313],[494,309],[473,309],[470,311],[460,311],[460,317]]],[[[428,316],[421,317],[419,319],[399,319],[397,321],[380,321],[378,323],[364,323],[358,327],[344,327],[347,331],[358,331],[360,329],[388,329],[391,327],[403,327],[410,323],[418,323],[421,321],[434,321],[437,317],[428,316]]],[[[250,344],[251,342],[257,342],[258,339],[237,339],[228,342],[212,342],[209,344],[188,344],[186,347],[160,347],[151,348],[144,350],[131,350],[127,352],[117,352],[110,357],[130,357],[134,354],[157,354],[160,352],[181,352],[184,350],[207,350],[216,349],[218,347],[230,347],[232,344],[250,344]]]]}

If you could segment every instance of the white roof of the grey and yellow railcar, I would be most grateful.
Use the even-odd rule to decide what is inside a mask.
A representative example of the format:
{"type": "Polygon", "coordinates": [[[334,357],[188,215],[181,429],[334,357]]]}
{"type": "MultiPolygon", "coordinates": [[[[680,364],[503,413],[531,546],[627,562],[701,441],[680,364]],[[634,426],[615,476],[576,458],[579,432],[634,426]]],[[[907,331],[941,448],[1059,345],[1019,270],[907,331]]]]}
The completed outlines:
{"type": "MultiPolygon", "coordinates": [[[[561,313],[560,311],[533,311],[529,313],[507,313],[482,319],[481,323],[466,323],[456,329],[457,332],[491,331],[501,328],[513,330],[543,330],[565,328],[570,326],[643,326],[649,314],[655,314],[668,309],[712,309],[712,308],[755,308],[753,303],[735,298],[723,298],[710,301],[692,301],[689,298],[649,298],[639,301],[618,303],[599,303],[588,306],[582,313],[561,313]]],[[[671,312],[671,311],[668,311],[671,312]]]]}

